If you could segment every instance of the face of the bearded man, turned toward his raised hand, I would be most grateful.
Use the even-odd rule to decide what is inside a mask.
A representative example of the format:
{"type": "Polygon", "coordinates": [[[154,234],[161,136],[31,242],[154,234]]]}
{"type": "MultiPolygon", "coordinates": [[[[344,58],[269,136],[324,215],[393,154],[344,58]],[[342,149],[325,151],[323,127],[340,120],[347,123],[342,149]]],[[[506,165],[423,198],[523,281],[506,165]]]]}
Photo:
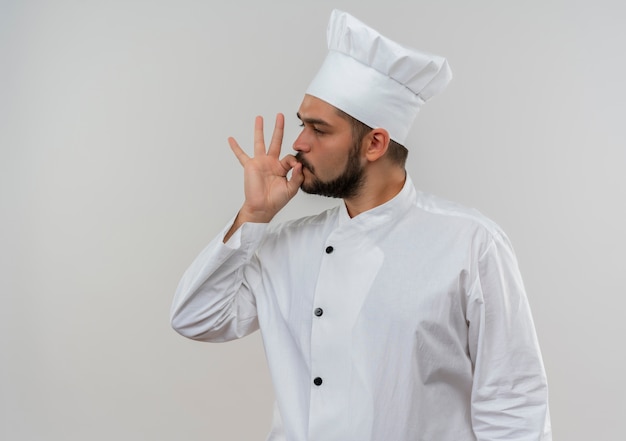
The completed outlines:
{"type": "Polygon", "coordinates": [[[330,104],[305,95],[298,110],[302,132],[293,144],[303,165],[302,190],[334,198],[351,198],[364,182],[360,142],[350,123],[330,104]]]}

